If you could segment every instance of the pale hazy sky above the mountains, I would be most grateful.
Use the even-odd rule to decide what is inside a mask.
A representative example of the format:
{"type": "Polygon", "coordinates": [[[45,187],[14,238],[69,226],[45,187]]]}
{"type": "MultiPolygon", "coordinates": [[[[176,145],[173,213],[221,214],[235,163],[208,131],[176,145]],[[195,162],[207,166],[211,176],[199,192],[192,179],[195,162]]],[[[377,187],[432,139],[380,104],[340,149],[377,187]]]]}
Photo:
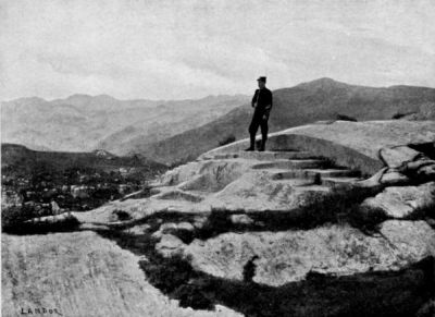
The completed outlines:
{"type": "Polygon", "coordinates": [[[434,87],[434,0],[0,0],[0,99],[434,87]]]}

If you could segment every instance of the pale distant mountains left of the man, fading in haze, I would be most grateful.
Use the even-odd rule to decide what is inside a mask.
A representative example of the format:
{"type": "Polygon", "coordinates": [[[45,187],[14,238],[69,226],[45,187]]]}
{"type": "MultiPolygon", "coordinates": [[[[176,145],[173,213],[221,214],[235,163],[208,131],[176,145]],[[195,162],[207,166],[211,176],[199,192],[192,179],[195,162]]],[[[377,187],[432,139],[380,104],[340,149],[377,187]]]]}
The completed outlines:
{"type": "Polygon", "coordinates": [[[38,150],[105,149],[123,155],[128,144],[154,143],[198,127],[247,100],[241,95],[160,101],[107,95],[21,98],[1,103],[1,141],[38,150]]]}

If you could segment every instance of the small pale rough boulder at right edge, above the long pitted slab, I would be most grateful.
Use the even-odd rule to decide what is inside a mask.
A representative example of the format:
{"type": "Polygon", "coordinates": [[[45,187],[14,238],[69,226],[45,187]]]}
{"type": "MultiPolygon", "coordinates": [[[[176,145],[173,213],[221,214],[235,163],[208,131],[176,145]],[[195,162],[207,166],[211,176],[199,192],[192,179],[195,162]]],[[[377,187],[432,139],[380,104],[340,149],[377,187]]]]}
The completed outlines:
{"type": "Polygon", "coordinates": [[[419,186],[386,187],[375,197],[366,198],[362,207],[382,210],[391,218],[407,218],[419,208],[434,206],[435,182],[419,186]]]}

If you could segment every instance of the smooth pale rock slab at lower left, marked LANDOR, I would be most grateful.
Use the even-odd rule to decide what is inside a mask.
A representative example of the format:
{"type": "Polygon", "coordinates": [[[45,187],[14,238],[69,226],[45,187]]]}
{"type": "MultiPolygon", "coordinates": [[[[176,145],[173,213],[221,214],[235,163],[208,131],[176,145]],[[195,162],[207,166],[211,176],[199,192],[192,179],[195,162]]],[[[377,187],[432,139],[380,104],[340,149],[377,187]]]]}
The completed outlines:
{"type": "Polygon", "coordinates": [[[2,234],[1,252],[2,316],[18,316],[20,307],[63,316],[241,316],[181,308],[146,281],[137,256],[94,232],[2,234]]]}

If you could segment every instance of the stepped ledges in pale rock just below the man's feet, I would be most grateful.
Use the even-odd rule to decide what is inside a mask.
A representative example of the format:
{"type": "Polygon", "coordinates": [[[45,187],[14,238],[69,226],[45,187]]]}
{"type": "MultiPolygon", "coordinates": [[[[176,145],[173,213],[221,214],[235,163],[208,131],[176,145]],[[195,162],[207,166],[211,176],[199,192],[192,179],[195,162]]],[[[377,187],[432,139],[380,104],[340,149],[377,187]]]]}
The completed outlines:
{"type": "MultiPolygon", "coordinates": [[[[275,195],[290,197],[296,192],[312,196],[327,195],[333,190],[347,191],[361,181],[359,171],[337,167],[331,160],[308,151],[293,149],[203,155],[196,161],[173,170],[172,174],[173,178],[152,184],[152,198],[171,200],[174,204],[208,204],[208,199],[213,199],[216,195],[219,200],[220,196],[227,197],[236,190],[249,192],[247,188],[251,185],[257,188],[257,196],[264,190],[266,200],[272,202],[276,200],[273,198],[275,195]],[[258,180],[262,183],[256,183],[258,180]],[[220,185],[211,185],[213,182],[220,185]]],[[[216,206],[215,202],[210,204],[216,206]]],[[[244,205],[241,203],[237,206],[244,205]]],[[[254,208],[256,203],[251,202],[250,206],[254,208]]],[[[271,209],[277,208],[273,204],[269,206],[271,209]]],[[[281,206],[286,208],[287,205],[281,206]]],[[[293,208],[291,204],[288,208],[293,208]]]]}

